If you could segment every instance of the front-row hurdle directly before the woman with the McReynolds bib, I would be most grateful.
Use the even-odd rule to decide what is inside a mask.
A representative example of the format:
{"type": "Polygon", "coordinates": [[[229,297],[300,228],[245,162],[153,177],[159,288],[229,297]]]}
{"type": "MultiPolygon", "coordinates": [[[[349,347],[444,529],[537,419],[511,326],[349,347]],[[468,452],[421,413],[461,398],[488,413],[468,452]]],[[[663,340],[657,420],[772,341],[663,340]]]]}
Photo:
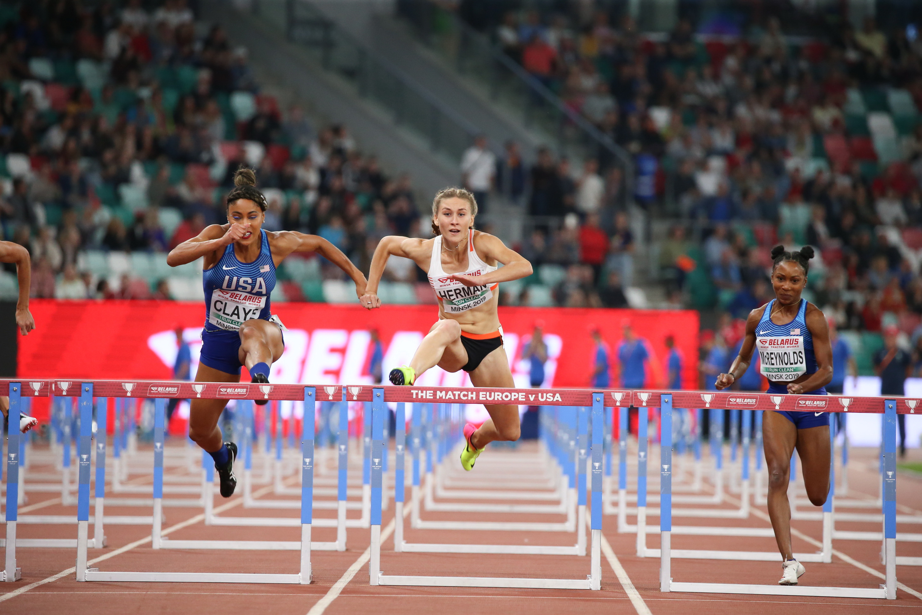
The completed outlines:
{"type": "MultiPolygon", "coordinates": [[[[884,420],[884,465],[888,478],[885,479],[884,492],[884,549],[886,562],[885,585],[880,588],[864,587],[822,587],[809,585],[757,585],[757,584],[722,584],[722,583],[688,583],[672,580],[670,561],[672,558],[671,534],[671,468],[672,468],[672,405],[673,400],[678,400],[680,405],[688,393],[655,393],[658,398],[663,417],[663,436],[660,443],[660,591],[690,592],[690,593],[717,593],[717,594],[752,594],[770,596],[811,596],[811,597],[857,597],[857,598],[888,598],[896,597],[896,402],[892,399],[855,398],[853,404],[858,411],[885,413],[884,420]],[[668,429],[667,429],[668,425],[668,429]]],[[[727,395],[727,394],[724,394],[727,395]]],[[[732,394],[730,394],[732,395],[732,394]]],[[[749,396],[750,394],[747,394],[749,396]]],[[[822,408],[825,411],[838,411],[833,407],[832,400],[817,398],[818,396],[768,396],[752,394],[756,397],[751,409],[786,409],[795,411],[814,411],[822,408]]],[[[833,397],[834,399],[834,397],[833,397]]],[[[723,401],[723,400],[721,400],[723,401]]],[[[834,465],[834,458],[831,466],[834,465]]],[[[832,498],[827,498],[832,516],[832,498]]],[[[826,512],[824,510],[824,512],[826,512]]],[[[824,532],[825,534],[825,532],[824,532]]]]}

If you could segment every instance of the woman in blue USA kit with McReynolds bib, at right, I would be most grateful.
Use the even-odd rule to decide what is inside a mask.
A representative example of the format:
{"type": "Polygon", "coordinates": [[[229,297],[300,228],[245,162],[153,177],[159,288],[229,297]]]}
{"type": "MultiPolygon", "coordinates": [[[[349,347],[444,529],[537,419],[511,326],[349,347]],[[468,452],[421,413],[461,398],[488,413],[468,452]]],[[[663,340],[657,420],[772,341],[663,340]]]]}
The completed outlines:
{"type": "MultiPolygon", "coordinates": [[[[716,387],[727,388],[749,368],[753,349],[759,349],[762,375],[773,395],[826,395],[833,379],[833,348],[829,325],[818,307],[800,298],[807,286],[813,248],[786,252],[772,250],[774,300],[752,310],[746,338],[729,373],[717,376],[716,387]]],[[[823,406],[825,408],[825,406],[823,406]]],[[[768,467],[768,514],[784,563],[779,585],[798,585],[803,564],[791,550],[791,507],[787,501],[790,459],[797,448],[804,485],[814,506],[829,494],[829,414],[827,412],[765,412],[762,421],[765,463],[768,467]]]]}

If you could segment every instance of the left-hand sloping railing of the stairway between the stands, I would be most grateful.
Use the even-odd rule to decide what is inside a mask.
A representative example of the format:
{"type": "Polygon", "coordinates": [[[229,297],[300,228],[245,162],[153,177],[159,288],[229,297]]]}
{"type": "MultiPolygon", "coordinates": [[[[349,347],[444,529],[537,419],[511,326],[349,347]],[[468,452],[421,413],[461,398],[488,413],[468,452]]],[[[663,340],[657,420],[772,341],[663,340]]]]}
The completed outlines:
{"type": "Polygon", "coordinates": [[[454,162],[477,136],[470,124],[306,0],[259,0],[254,12],[284,33],[287,41],[309,53],[325,71],[335,74],[362,98],[391,115],[394,124],[419,136],[433,153],[454,162]]]}

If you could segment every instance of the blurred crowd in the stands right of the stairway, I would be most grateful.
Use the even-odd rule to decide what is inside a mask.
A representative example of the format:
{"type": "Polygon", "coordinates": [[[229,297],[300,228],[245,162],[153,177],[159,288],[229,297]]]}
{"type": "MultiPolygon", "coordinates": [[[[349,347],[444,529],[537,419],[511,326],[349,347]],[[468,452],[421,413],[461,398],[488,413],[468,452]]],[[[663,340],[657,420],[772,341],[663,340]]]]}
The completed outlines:
{"type": "MultiPolygon", "coordinates": [[[[736,38],[701,36],[687,20],[648,36],[629,16],[575,8],[481,25],[633,155],[636,202],[676,221],[653,225],[665,235],[655,247],[670,304],[743,318],[773,296],[771,246],[809,243],[818,257],[808,297],[841,329],[896,325],[913,346],[922,337],[915,30],[884,32],[868,18],[795,43],[765,18],[736,38]]],[[[618,170],[604,170],[605,160],[601,173],[594,160],[578,172],[566,164],[542,152],[530,171],[532,214],[578,216],[571,241],[555,236],[545,259],[560,262],[569,245],[596,290],[608,275],[630,286],[630,228],[619,227],[612,200],[623,190],[618,170]],[[549,176],[551,194],[563,195],[550,201],[541,188],[549,176]]]]}

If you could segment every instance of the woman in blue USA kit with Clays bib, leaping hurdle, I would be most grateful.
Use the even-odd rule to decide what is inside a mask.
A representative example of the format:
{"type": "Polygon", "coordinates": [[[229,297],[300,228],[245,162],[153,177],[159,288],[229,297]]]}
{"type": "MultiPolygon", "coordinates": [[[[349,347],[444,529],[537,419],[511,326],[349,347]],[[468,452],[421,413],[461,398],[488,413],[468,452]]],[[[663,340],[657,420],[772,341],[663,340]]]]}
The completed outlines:
{"type": "MultiPolygon", "coordinates": [[[[293,252],[316,252],[349,274],[360,297],[365,293],[365,276],[321,237],[263,231],[266,197],[256,189],[252,170],[237,171],[234,184],[227,197],[228,223],[213,224],[180,243],[167,262],[179,266],[205,257],[205,329],[195,381],[237,383],[245,365],[254,383],[267,383],[269,365],[285,351],[283,326],[269,306],[276,266],[293,252]]],[[[237,485],[233,474],[237,446],[223,442],[218,428],[226,405],[224,399],[193,399],[189,437],[214,457],[221,495],[229,498],[237,485]]]]}

